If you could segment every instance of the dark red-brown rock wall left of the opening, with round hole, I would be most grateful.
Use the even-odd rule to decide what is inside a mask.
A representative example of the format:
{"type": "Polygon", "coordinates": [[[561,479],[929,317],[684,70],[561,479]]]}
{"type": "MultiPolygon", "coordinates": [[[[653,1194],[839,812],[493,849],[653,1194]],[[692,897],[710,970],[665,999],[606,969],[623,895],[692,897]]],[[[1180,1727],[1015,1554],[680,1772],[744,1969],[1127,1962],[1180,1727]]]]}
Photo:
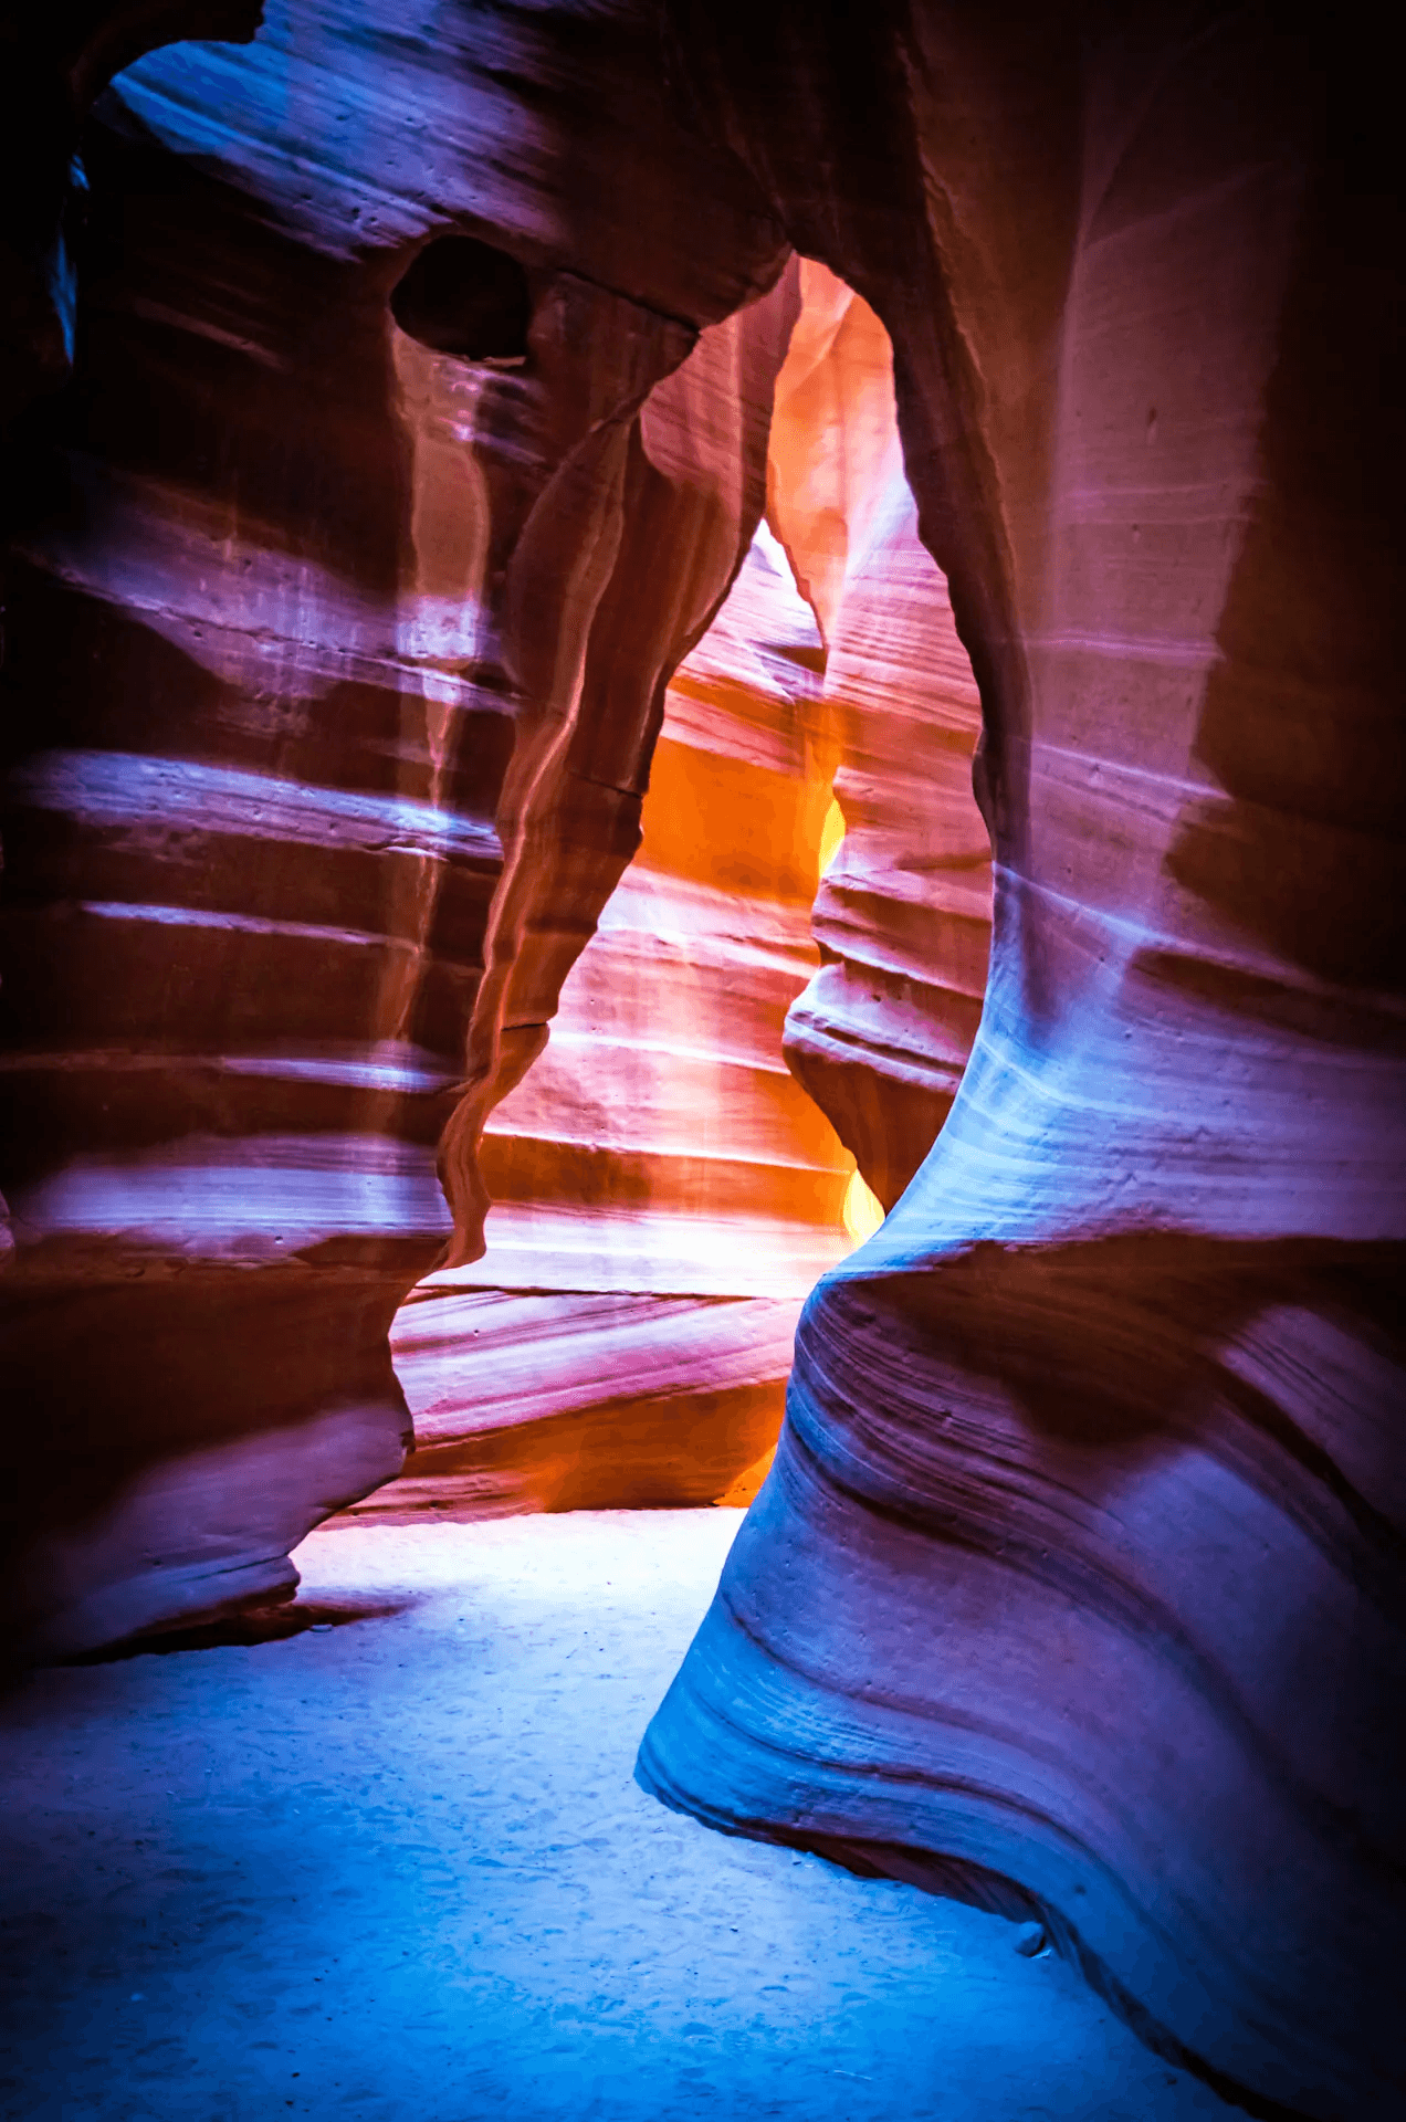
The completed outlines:
{"type": "Polygon", "coordinates": [[[40,1651],[291,1589],[399,1468],[438,1165],[471,1256],[482,1084],[629,859],[794,308],[629,6],[270,4],[121,74],[83,159],[6,584],[4,1608],[40,1651]]]}

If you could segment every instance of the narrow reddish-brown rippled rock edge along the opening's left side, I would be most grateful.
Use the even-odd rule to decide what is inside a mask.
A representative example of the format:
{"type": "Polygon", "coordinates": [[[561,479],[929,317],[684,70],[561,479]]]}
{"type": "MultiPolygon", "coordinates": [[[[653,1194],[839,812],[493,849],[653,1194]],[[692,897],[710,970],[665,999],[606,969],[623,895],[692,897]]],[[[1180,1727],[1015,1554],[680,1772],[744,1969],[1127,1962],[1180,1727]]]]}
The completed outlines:
{"type": "MultiPolygon", "coordinates": [[[[665,685],[709,626],[758,528],[771,397],[796,303],[790,267],[773,293],[703,329],[639,407],[620,467],[612,571],[554,713],[537,702],[554,698],[561,641],[533,643],[542,683],[518,715],[499,800],[508,859],[484,940],[488,970],[469,1023],[467,1095],[442,1144],[457,1218],[448,1265],[467,1265],[482,1252],[482,1216],[499,1193],[480,1173],[482,1129],[542,1055],[563,980],[639,847],[665,685]]],[[[796,615],[786,611],[779,624],[794,626],[796,615]]],[[[658,772],[667,760],[669,749],[658,772]]],[[[707,819],[697,794],[682,794],[680,802],[692,830],[728,840],[733,819],[707,819]]],[[[656,800],[656,838],[669,804],[669,796],[656,800]]],[[[777,823],[788,830],[786,815],[777,821],[762,804],[752,836],[767,838],[777,823]]],[[[673,838],[686,840],[688,830],[673,838]]],[[[707,874],[703,842],[684,849],[682,859],[686,874],[699,859],[707,874]]],[[[731,881],[724,879],[724,889],[731,881]]],[[[554,1065],[548,1080],[556,1082],[554,1065]]],[[[584,1178],[580,1184],[590,1197],[590,1184],[584,1178]]]]}

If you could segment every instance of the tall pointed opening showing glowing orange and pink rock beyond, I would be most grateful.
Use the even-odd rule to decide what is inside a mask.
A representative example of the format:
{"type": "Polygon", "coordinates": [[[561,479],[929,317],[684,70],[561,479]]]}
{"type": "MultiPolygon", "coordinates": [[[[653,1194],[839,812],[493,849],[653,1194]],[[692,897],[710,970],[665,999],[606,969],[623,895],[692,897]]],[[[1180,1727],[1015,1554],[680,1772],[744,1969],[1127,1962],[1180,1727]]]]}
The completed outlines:
{"type": "MultiPolygon", "coordinates": [[[[654,475],[686,422],[692,448],[726,435],[737,373],[705,333],[656,388],[654,475]]],[[[680,596],[684,564],[650,552],[631,594],[680,596]]],[[[480,1144],[486,1252],[401,1309],[416,1447],[348,1517],[756,1494],[801,1305],[922,1163],[977,1029],[977,728],[888,335],[807,263],[767,516],[667,688],[641,845],[580,951],[571,879],[616,798],[571,798],[576,868],[533,904],[503,1010],[531,1053],[527,999],[556,1002],[480,1144]]]]}

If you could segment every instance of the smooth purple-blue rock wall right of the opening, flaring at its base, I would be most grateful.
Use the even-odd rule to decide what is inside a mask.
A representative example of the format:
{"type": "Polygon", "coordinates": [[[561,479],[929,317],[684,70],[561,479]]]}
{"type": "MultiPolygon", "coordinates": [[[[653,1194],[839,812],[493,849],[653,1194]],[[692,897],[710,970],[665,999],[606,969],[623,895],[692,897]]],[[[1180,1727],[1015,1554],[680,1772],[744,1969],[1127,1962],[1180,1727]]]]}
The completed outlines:
{"type": "Polygon", "coordinates": [[[1402,2109],[1400,212],[1257,11],[671,0],[881,316],[983,698],[981,1029],[809,1299],[639,1774],[1041,1916],[1253,2111],[1402,2109]],[[862,123],[858,121],[862,112],[862,123]]]}

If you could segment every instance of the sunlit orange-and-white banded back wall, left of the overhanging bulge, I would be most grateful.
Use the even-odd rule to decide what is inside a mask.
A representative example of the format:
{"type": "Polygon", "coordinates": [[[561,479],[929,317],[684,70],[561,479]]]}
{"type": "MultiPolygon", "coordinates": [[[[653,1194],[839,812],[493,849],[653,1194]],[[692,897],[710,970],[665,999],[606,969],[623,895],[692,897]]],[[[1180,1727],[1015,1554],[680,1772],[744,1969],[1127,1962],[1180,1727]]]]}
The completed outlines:
{"type": "Polygon", "coordinates": [[[816,963],[822,660],[760,526],[669,688],[639,855],[486,1123],[486,1250],[395,1322],[414,1449],[357,1517],[756,1492],[801,1303],[847,1250],[852,1159],[782,1061],[816,963]]]}

